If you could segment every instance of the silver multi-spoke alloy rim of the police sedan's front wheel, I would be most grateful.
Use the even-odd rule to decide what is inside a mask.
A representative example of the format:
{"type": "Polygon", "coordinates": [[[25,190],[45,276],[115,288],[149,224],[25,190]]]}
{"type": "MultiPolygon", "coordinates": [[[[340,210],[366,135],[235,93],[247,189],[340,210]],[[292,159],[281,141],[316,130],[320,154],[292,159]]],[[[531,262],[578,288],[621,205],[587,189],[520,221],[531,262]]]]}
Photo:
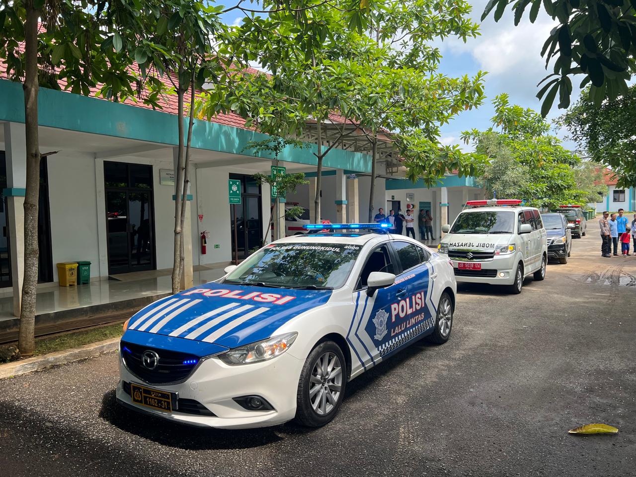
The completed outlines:
{"type": "Polygon", "coordinates": [[[342,391],[342,364],[335,353],[320,356],[309,380],[309,401],[318,415],[329,414],[340,399],[342,391]]]}

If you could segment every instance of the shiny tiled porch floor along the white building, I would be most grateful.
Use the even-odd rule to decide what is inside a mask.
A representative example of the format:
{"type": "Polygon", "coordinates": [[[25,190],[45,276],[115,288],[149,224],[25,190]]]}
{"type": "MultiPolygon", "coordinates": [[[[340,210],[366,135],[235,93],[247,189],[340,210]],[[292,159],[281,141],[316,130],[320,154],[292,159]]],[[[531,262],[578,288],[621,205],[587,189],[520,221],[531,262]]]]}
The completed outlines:
{"type": "MultiPolygon", "coordinates": [[[[151,275],[149,278],[138,278],[130,281],[102,280],[76,287],[53,286],[41,289],[38,291],[36,314],[90,307],[170,292],[172,283],[170,275],[157,277],[154,276],[156,275],[155,271],[149,272],[149,275],[151,275]]],[[[199,270],[194,272],[194,282],[195,285],[198,285],[222,276],[223,268],[199,270]]],[[[4,293],[0,296],[0,321],[13,318],[13,296],[4,293]]]]}

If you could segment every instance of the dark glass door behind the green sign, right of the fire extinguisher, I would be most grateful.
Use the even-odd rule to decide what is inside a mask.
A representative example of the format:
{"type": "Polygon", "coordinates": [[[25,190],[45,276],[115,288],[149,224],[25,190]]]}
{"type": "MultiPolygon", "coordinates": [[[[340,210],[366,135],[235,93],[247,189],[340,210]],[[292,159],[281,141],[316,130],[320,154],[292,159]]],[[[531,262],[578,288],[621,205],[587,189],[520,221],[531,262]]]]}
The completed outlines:
{"type": "Polygon", "coordinates": [[[263,217],[261,186],[251,176],[230,174],[230,179],[241,181],[241,203],[230,205],[232,260],[235,261],[244,259],[251,249],[260,247],[263,241],[263,217]]]}

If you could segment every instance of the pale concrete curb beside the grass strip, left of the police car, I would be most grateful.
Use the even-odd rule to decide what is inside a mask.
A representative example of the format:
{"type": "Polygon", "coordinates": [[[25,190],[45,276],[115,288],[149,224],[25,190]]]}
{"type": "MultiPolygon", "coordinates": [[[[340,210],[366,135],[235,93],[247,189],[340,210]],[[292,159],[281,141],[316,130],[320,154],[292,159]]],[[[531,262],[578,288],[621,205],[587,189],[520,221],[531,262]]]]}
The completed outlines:
{"type": "Polygon", "coordinates": [[[110,340],[90,343],[80,348],[56,351],[43,356],[21,359],[13,363],[0,364],[0,379],[24,375],[32,371],[43,370],[49,366],[56,366],[57,364],[71,363],[72,361],[78,361],[78,359],[98,356],[99,354],[116,350],[120,339],[111,338],[110,340]]]}

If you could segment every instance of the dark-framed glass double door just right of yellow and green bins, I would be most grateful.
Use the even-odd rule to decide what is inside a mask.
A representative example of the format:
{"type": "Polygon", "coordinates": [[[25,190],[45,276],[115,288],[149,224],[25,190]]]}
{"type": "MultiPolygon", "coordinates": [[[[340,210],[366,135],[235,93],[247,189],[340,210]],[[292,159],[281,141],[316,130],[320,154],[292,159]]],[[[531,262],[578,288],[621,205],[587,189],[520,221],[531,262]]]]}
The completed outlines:
{"type": "Polygon", "coordinates": [[[152,166],[104,162],[108,273],[155,269],[152,166]]]}

